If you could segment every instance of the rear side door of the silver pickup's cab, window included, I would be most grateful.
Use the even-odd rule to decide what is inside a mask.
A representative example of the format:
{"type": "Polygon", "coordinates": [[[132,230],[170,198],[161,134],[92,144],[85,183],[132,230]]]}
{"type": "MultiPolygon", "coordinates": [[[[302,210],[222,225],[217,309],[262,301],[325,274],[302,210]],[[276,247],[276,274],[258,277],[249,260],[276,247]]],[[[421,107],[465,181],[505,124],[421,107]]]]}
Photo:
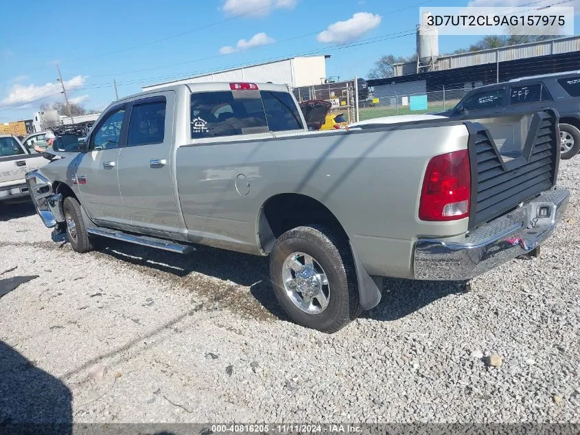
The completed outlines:
{"type": "Polygon", "coordinates": [[[131,225],[178,232],[172,179],[174,91],[131,104],[126,146],[119,153],[119,188],[131,225]]]}

